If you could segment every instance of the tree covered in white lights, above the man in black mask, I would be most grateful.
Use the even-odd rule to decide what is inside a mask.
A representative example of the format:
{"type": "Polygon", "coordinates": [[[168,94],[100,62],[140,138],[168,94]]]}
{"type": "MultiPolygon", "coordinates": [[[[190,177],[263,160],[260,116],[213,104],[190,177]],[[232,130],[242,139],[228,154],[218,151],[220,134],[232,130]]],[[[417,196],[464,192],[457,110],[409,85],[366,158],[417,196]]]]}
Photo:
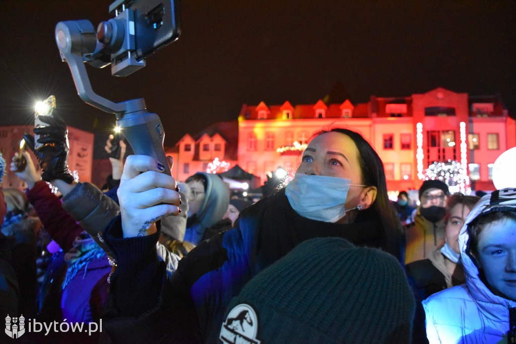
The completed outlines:
{"type": "Polygon", "coordinates": [[[446,183],[452,194],[457,192],[466,195],[471,194],[470,177],[458,161],[448,160],[446,163],[434,161],[423,175],[423,180],[428,181],[430,179],[438,179],[446,183]]]}

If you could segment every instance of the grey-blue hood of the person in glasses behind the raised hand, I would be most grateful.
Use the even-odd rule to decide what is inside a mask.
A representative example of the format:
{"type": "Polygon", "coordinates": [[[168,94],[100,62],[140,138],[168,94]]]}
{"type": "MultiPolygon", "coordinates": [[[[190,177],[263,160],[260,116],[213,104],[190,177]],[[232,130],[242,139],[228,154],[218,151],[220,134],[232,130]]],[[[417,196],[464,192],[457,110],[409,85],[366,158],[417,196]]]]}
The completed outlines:
{"type": "Polygon", "coordinates": [[[212,173],[199,172],[206,177],[207,185],[204,201],[197,212],[196,219],[187,225],[184,241],[198,244],[204,235],[206,228],[213,226],[224,216],[229,206],[229,188],[222,179],[212,173]]]}

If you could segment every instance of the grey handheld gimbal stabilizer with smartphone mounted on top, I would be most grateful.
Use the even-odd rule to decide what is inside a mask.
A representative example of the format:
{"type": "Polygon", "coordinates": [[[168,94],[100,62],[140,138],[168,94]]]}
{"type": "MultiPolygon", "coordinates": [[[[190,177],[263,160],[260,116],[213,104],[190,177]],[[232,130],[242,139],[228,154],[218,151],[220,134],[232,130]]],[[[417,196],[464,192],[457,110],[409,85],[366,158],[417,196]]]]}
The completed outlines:
{"type": "MultiPolygon", "coordinates": [[[[165,133],[159,117],[146,110],[143,98],[114,103],[93,92],[84,62],[96,68],[111,64],[111,74],[126,76],[144,67],[145,57],[173,42],[180,35],[179,14],[174,0],[117,0],[109,11],[115,18],[95,31],[88,20],[59,22],[56,43],[72,72],[80,98],[115,113],[135,154],[150,155],[168,166],[163,149],[165,133]]],[[[168,174],[169,169],[165,169],[168,174]]]]}

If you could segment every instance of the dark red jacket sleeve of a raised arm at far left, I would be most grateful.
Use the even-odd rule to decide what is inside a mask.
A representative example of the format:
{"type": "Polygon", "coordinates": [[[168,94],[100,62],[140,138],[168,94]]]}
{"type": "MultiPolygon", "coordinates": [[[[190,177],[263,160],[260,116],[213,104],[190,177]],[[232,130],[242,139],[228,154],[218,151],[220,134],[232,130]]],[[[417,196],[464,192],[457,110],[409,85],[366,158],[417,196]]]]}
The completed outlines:
{"type": "Polygon", "coordinates": [[[28,201],[34,206],[50,237],[63,251],[70,250],[75,237],[83,231],[83,228],[62,208],[61,201],[45,182],[37,182],[26,193],[28,201]]]}

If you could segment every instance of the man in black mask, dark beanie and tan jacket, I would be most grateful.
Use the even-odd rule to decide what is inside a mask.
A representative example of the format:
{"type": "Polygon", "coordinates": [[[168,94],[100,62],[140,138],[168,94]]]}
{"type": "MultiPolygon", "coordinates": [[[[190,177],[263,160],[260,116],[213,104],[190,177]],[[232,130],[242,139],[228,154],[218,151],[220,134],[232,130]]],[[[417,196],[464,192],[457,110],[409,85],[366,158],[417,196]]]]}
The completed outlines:
{"type": "Polygon", "coordinates": [[[413,225],[407,228],[405,235],[407,250],[406,264],[427,258],[430,249],[446,236],[446,201],[449,196],[448,186],[438,180],[423,182],[419,190],[420,206],[413,225]]]}

